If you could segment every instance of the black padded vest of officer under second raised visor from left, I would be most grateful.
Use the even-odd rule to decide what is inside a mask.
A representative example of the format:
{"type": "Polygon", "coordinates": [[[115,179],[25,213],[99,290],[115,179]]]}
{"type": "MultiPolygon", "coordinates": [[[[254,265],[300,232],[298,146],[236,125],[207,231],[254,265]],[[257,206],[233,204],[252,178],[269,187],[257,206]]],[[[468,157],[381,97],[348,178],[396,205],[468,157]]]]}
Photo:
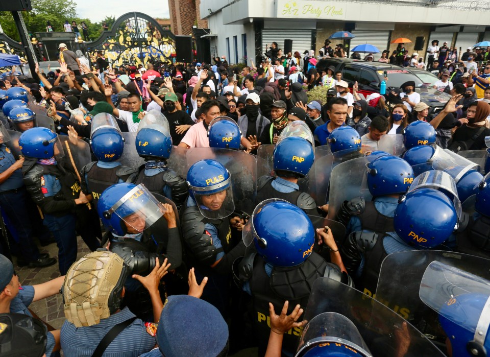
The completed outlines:
{"type": "Polygon", "coordinates": [[[135,184],[142,183],[148,191],[153,194],[164,194],[165,186],[171,189],[171,198],[174,201],[178,209],[182,207],[185,199],[189,193],[189,187],[185,179],[177,175],[174,170],[168,168],[156,169],[160,172],[153,176],[148,176],[145,174],[145,165],[141,165],[138,169],[138,177],[136,178],[135,184]]]}

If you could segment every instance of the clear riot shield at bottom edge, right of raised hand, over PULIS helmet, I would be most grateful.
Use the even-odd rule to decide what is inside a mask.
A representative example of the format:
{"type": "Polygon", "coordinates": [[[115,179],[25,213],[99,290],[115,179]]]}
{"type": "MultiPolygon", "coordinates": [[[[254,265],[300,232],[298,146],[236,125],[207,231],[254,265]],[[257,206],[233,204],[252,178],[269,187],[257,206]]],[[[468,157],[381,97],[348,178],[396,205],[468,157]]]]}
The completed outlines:
{"type": "MultiPolygon", "coordinates": [[[[310,355],[307,352],[313,348],[319,352],[330,351],[329,348],[344,348],[345,351],[356,350],[358,352],[352,355],[371,355],[372,353],[374,356],[444,356],[430,340],[422,336],[420,331],[396,312],[333,279],[318,278],[315,280],[306,307],[305,320],[308,321],[308,324],[303,331],[297,356],[306,357],[310,355]],[[355,331],[352,328],[349,329],[351,334],[335,334],[339,330],[346,331],[340,328],[342,325],[346,326],[345,323],[338,326],[314,324],[317,317],[324,313],[336,313],[350,320],[362,339],[352,334],[352,331],[355,331]],[[316,329],[312,329],[314,325],[317,326],[316,329]],[[331,339],[332,337],[334,339],[331,339]],[[362,340],[364,344],[361,343],[362,340]],[[359,347],[361,349],[358,349],[359,347]]],[[[337,317],[329,321],[336,322],[339,319],[337,317]]],[[[341,351],[338,350],[338,352],[341,351]]]]}

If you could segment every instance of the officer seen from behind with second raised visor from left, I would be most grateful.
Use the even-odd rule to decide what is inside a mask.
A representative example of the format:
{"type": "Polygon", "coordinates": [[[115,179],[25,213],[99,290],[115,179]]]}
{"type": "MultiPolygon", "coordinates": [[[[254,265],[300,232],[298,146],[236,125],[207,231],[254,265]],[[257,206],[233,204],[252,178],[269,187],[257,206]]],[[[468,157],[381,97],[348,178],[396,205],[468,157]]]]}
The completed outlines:
{"type": "Polygon", "coordinates": [[[150,192],[174,201],[180,209],[187,198],[188,187],[185,179],[167,167],[172,139],[168,122],[159,111],[151,110],[139,123],[136,151],[146,162],[139,168],[135,183],[143,183],[150,192]]]}

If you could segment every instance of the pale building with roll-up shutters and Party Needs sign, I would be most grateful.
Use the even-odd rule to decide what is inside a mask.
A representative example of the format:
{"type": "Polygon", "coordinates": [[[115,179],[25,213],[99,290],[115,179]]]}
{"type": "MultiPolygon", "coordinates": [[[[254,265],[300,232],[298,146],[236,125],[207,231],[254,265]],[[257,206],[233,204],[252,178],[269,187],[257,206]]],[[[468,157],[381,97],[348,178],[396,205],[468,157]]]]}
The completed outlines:
{"type": "MultiPolygon", "coordinates": [[[[370,43],[380,52],[395,50],[397,44],[390,42],[398,37],[409,38],[405,48],[423,56],[434,39],[462,52],[490,40],[488,0],[201,0],[200,9],[208,21],[211,55],[225,55],[230,63],[250,64],[272,41],[284,49],[285,39],[292,40],[292,52],[317,54],[336,31],[356,36],[351,49],[370,43]]],[[[331,45],[337,43],[342,41],[331,45]]]]}

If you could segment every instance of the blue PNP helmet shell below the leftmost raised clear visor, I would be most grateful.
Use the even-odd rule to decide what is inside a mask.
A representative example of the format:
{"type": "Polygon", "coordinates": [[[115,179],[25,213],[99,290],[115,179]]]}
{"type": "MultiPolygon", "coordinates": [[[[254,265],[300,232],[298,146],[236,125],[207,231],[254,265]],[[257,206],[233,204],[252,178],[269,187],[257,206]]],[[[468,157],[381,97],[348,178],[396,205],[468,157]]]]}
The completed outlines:
{"type": "Polygon", "coordinates": [[[97,160],[112,162],[121,157],[124,139],[118,130],[101,128],[92,135],[90,146],[97,160]]]}

